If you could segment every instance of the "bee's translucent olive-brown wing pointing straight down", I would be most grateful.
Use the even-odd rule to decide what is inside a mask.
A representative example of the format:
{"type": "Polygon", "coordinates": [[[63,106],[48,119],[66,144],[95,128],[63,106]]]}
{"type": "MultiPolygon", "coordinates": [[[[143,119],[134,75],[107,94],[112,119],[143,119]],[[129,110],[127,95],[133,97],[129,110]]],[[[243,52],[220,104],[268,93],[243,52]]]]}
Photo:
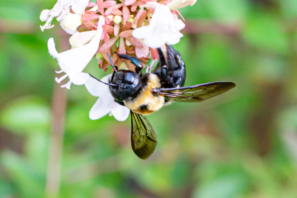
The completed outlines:
{"type": "Polygon", "coordinates": [[[157,145],[157,135],[146,116],[131,114],[131,144],[134,153],[141,159],[148,158],[157,145]]]}

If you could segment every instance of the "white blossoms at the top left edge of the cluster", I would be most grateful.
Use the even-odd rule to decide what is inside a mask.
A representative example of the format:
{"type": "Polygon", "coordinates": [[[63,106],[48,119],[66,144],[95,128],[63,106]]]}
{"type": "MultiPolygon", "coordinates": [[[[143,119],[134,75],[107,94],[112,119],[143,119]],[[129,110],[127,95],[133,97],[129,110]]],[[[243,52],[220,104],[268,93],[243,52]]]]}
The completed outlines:
{"type": "Polygon", "coordinates": [[[51,25],[51,22],[54,17],[56,17],[57,21],[60,21],[70,12],[70,7],[75,14],[84,14],[86,6],[88,5],[89,0],[58,0],[54,5],[50,12],[48,10],[42,10],[40,13],[40,20],[45,21],[46,14],[48,14],[48,18],[46,23],[43,26],[40,26],[41,31],[44,29],[50,29],[54,25],[51,25]]]}

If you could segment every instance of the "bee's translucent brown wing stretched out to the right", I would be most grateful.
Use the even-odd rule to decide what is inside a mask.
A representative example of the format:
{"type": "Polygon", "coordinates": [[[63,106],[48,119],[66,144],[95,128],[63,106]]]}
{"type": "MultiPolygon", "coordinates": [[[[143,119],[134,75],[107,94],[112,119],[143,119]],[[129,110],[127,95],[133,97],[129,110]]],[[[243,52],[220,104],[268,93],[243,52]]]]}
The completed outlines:
{"type": "Polygon", "coordinates": [[[159,88],[155,93],[164,96],[168,101],[201,102],[225,93],[235,87],[230,82],[214,82],[179,88],[159,88]]]}

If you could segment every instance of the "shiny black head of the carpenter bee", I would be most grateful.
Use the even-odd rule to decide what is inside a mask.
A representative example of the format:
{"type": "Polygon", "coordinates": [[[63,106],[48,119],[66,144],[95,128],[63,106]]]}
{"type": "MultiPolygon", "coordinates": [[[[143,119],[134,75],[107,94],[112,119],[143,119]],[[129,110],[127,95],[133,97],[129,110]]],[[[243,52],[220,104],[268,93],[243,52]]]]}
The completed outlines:
{"type": "Polygon", "coordinates": [[[115,86],[110,86],[111,95],[119,102],[135,97],[142,88],[138,74],[123,69],[113,75],[111,83],[115,84],[115,86]]]}

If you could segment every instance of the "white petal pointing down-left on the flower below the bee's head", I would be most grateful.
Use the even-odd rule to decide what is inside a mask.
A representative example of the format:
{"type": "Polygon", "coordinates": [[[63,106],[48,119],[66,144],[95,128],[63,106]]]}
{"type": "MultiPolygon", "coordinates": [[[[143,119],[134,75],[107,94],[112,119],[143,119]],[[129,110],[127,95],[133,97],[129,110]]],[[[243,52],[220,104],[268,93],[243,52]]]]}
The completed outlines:
{"type": "Polygon", "coordinates": [[[89,117],[91,120],[97,120],[108,114],[111,110],[111,105],[114,101],[106,100],[104,97],[99,97],[96,103],[90,110],[89,117]]]}

